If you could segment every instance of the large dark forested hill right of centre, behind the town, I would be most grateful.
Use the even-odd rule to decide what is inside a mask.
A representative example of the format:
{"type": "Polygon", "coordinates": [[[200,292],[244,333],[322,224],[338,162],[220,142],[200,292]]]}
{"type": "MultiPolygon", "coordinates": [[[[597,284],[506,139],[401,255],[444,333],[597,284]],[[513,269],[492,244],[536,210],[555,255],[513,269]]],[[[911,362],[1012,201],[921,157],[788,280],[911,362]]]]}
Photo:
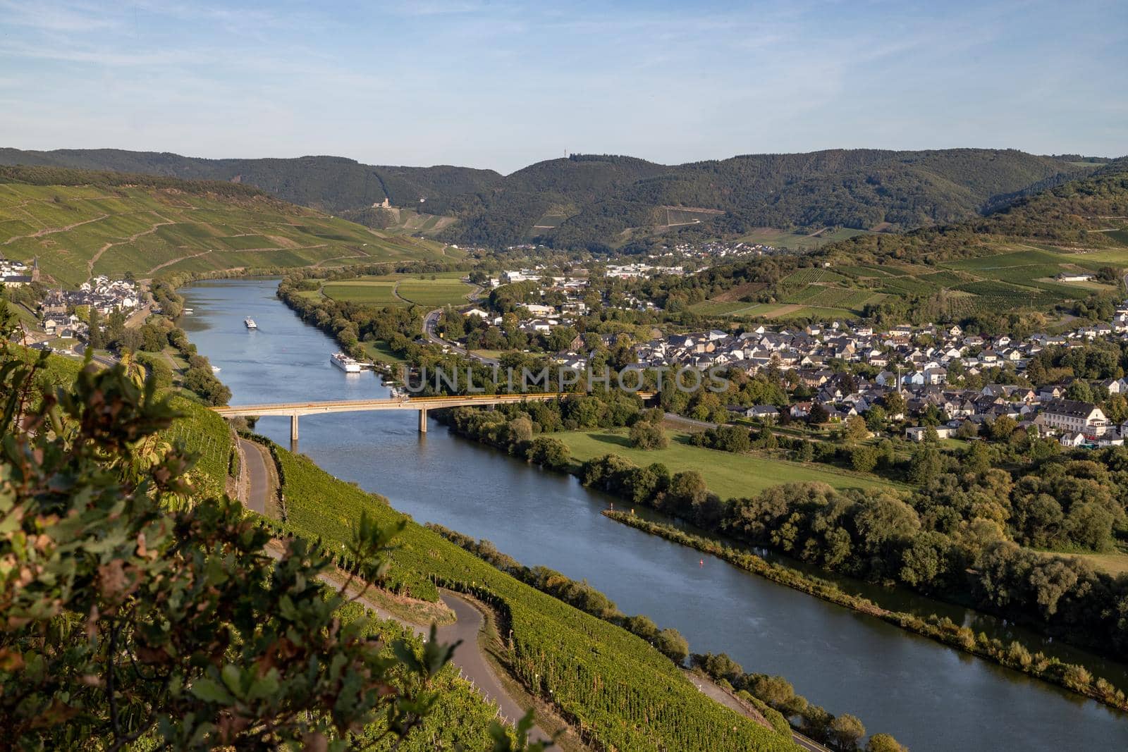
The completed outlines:
{"type": "Polygon", "coordinates": [[[1001,197],[1098,167],[986,149],[749,154],[677,167],[576,156],[535,165],[473,201],[456,201],[461,221],[450,232],[462,242],[540,238],[575,247],[622,245],[654,232],[732,236],[757,227],[907,230],[973,218],[1001,197]],[[598,176],[600,189],[583,182],[589,176],[598,176]]]}

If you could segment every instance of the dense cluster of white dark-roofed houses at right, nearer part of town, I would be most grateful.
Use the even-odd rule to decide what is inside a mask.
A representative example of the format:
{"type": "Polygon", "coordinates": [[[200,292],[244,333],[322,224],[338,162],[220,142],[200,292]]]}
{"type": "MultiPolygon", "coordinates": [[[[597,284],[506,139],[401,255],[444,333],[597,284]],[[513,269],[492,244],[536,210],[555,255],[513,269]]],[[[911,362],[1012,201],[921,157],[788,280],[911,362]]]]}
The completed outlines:
{"type": "MultiPolygon", "coordinates": [[[[1070,346],[1104,336],[1128,337],[1128,306],[1111,324],[1082,327],[1065,335],[1033,335],[1014,340],[1001,335],[966,335],[959,326],[897,326],[882,331],[865,325],[812,325],[802,329],[769,330],[757,327],[733,335],[712,330],[669,335],[636,346],[638,362],[650,366],[691,366],[707,370],[723,365],[755,375],[767,369],[793,378],[812,392],[808,401],[790,406],[790,415],[805,418],[812,405],[823,407],[829,421],[866,413],[892,391],[906,404],[904,418],[934,407],[949,423],[935,427],[941,439],[952,437],[964,422],[977,426],[1008,416],[1020,426],[1057,435],[1070,446],[1122,444],[1128,424],[1110,422],[1093,404],[1064,399],[1066,384],[1038,388],[987,384],[981,389],[955,389],[948,384],[949,368],[977,374],[1010,364],[1022,373],[1029,361],[1049,346],[1070,346]],[[872,379],[831,370],[834,363],[867,364],[881,369],[872,379]]],[[[872,373],[872,369],[867,369],[872,373]]],[[[1100,384],[1109,393],[1128,393],[1128,381],[1112,379],[1100,384]]],[[[734,413],[761,421],[778,417],[770,405],[731,406],[734,413]]],[[[926,426],[913,426],[908,439],[920,441],[926,426]]]]}

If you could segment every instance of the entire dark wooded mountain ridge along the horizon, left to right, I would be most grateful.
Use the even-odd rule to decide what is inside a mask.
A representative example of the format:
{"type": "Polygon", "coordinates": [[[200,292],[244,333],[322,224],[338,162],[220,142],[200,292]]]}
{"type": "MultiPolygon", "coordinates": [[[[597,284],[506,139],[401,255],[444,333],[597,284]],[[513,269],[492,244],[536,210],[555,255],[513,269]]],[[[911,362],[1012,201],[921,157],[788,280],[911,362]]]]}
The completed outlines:
{"type": "Polygon", "coordinates": [[[831,149],[667,166],[573,154],[502,176],[462,167],[387,167],[342,157],[201,159],[114,149],[0,149],[0,165],[50,165],[253,184],[287,201],[356,216],[381,203],[458,219],[452,242],[623,246],[678,232],[756,227],[909,230],[973,219],[1089,175],[1100,159],[1016,150],[831,149]],[[422,201],[421,200],[425,200],[422,201]]]}

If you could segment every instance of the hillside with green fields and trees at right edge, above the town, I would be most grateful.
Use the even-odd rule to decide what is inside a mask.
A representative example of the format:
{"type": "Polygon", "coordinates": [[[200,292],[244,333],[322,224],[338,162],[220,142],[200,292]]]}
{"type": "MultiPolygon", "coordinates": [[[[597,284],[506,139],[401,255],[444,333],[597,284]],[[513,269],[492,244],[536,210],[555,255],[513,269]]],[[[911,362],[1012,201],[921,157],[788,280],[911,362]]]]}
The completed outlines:
{"type": "Polygon", "coordinates": [[[696,282],[708,298],[690,310],[724,318],[967,322],[1064,312],[1107,320],[1107,304],[1094,300],[1119,294],[1128,272],[1128,160],[985,218],[860,235],[786,262],[774,275],[764,272],[781,259],[746,265],[729,278],[711,269],[696,282]],[[746,277],[761,284],[738,299],[731,287],[746,277]]]}

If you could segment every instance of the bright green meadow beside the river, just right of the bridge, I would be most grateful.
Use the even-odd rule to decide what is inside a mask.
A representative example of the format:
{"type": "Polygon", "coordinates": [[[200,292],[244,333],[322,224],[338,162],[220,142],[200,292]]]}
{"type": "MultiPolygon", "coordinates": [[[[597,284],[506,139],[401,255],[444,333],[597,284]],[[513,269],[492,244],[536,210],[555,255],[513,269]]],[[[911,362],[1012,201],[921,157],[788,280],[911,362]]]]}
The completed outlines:
{"type": "Polygon", "coordinates": [[[670,472],[697,470],[708,489],[721,498],[751,496],[783,483],[819,481],[835,488],[892,488],[881,478],[838,472],[825,465],[787,462],[752,454],[733,454],[693,446],[689,434],[668,431],[667,449],[632,449],[625,432],[570,431],[553,434],[572,450],[575,460],[584,461],[603,454],[618,454],[635,465],[661,462],[670,472]]]}

